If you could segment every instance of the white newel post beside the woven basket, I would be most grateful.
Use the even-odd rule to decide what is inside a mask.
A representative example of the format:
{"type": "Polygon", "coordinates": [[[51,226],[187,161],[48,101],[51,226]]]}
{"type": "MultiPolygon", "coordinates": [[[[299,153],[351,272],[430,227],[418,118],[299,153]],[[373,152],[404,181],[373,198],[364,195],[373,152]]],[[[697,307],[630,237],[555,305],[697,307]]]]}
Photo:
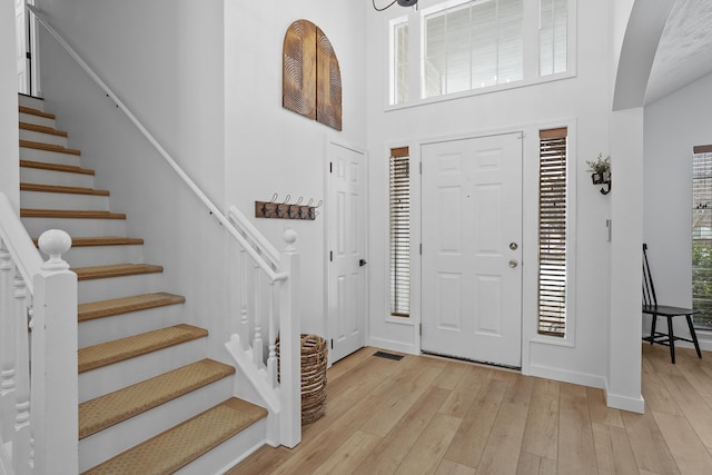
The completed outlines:
{"type": "Polygon", "coordinates": [[[301,442],[300,270],[299,254],[294,247],[297,234],[287,229],[284,239],[287,247],[281,253],[280,264],[289,277],[279,286],[281,444],[291,448],[301,442]]]}

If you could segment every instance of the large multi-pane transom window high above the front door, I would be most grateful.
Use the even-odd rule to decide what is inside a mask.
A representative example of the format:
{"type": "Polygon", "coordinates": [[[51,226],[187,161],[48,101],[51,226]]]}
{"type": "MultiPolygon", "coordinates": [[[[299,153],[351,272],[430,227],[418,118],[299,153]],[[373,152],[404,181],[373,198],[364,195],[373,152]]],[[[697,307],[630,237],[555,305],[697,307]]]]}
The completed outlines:
{"type": "Polygon", "coordinates": [[[574,76],[575,1],[452,0],[392,20],[389,105],[574,76]]]}

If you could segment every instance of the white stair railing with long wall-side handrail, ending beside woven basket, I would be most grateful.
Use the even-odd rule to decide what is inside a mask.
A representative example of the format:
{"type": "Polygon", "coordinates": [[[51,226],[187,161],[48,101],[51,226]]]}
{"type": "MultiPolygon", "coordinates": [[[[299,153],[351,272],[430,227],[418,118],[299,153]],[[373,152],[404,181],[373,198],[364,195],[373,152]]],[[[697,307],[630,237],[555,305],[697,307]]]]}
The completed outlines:
{"type": "MultiPolygon", "coordinates": [[[[270,423],[268,424],[268,437],[271,444],[281,444],[294,447],[301,441],[301,396],[300,396],[300,350],[299,350],[299,315],[297,309],[298,287],[296,276],[299,275],[299,256],[294,247],[296,234],[285,232],[287,246],[279,254],[269,245],[267,239],[239,214],[241,218],[228,219],[218,207],[210,201],[205,192],[174,160],[166,149],[146,129],[146,127],[126,107],[123,101],[99,78],[99,76],[81,59],[77,51],[59,34],[50,24],[47,16],[37,7],[28,4],[27,8],[34,14],[47,31],[65,48],[67,53],[77,61],[79,67],[99,86],[103,92],[123,111],[127,118],[136,126],[144,137],[154,146],[156,151],[166,160],[174,171],[182,179],[188,188],[208,208],[210,214],[222,225],[228,234],[240,247],[240,275],[241,275],[241,308],[239,330],[226,345],[228,349],[248,352],[253,359],[255,374],[265,372],[265,377],[255,376],[253,383],[265,398],[270,409],[270,423]],[[247,269],[251,266],[251,277],[247,269]],[[263,290],[257,283],[259,276],[264,276],[269,285],[267,309],[260,308],[265,300],[263,290]],[[247,307],[247,285],[254,283],[253,308],[247,307]],[[278,286],[278,290],[275,288],[278,286]],[[275,299],[278,304],[275,304],[275,299]],[[264,328],[264,315],[267,316],[267,329],[264,328]],[[277,317],[278,314],[278,317],[277,317]],[[279,377],[277,375],[276,338],[280,338],[279,377]],[[239,342],[237,346],[236,342],[239,342]],[[265,342],[267,342],[267,357],[264,357],[265,342]],[[278,382],[279,379],[279,382],[278,382]],[[260,380],[267,380],[261,384],[260,380]],[[277,384],[278,382],[278,384],[277,384]],[[271,427],[271,429],[270,429],[271,427]]],[[[237,359],[237,355],[234,354],[237,359]]],[[[238,362],[239,363],[239,362],[238,362]]],[[[245,369],[245,368],[243,368],[245,369]]]]}

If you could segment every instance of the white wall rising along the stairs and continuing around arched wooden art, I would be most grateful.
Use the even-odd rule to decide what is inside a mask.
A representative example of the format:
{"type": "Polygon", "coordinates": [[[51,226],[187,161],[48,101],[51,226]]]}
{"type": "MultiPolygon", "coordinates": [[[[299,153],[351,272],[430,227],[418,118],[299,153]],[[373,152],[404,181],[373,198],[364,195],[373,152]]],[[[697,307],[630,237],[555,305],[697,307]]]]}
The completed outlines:
{"type": "MultiPolygon", "coordinates": [[[[254,201],[269,200],[274,192],[317,202],[326,198],[327,141],[365,147],[365,46],[354,40],[364,30],[364,6],[347,0],[58,0],[40,7],[218,208],[235,204],[251,218],[254,201]],[[300,18],[322,28],[339,59],[342,132],[281,108],[284,34],[300,18]]],[[[166,265],[176,291],[201,303],[198,311],[229,311],[239,278],[229,265],[236,256],[224,232],[53,40],[43,44],[48,102],[62,127],[81,126],[70,133],[71,145],[82,150],[87,166],[97,168],[98,186],[111,184],[113,209],[128,212],[131,228],[150,237],[147,254],[166,265]],[[219,257],[200,261],[215,249],[219,257]],[[171,255],[184,258],[167,265],[171,255]],[[217,275],[222,285],[181,277],[190,276],[191,268],[196,276],[217,275]]],[[[298,232],[303,330],[324,335],[320,211],[316,221],[255,224],[278,249],[285,247],[286,227],[298,232]]]]}

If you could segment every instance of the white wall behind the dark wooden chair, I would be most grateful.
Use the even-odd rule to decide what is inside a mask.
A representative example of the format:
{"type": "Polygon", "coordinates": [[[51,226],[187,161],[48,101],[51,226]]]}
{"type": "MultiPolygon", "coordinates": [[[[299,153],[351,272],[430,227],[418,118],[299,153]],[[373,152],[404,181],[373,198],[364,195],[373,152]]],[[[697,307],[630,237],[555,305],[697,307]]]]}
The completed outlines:
{"type": "MultiPolygon", "coordinates": [[[[643,239],[666,305],[692,305],[692,148],[712,144],[711,108],[712,75],[645,107],[643,239]]],[[[649,318],[643,329],[650,331],[649,318]]],[[[675,333],[689,335],[684,320],[675,321],[675,333]]],[[[709,336],[698,336],[712,349],[709,336]]]]}

